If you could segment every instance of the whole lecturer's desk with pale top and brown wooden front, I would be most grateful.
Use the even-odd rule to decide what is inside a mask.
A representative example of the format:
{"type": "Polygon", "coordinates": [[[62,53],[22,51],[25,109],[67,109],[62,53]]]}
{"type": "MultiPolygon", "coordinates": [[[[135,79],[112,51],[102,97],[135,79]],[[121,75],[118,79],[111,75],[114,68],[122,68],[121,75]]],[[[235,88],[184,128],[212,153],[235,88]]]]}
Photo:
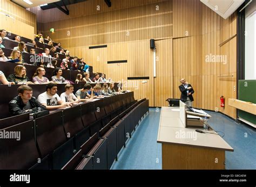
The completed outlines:
{"type": "Polygon", "coordinates": [[[234,149],[213,130],[185,128],[179,108],[162,107],[157,142],[162,144],[163,169],[225,169],[225,151],[234,149]]]}

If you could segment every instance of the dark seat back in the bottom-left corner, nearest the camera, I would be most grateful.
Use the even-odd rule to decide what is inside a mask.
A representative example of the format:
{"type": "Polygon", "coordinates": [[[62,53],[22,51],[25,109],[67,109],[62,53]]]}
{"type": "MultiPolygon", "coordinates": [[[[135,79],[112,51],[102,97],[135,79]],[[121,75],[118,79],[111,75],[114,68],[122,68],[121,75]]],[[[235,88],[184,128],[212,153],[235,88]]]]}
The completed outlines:
{"type": "Polygon", "coordinates": [[[33,125],[29,120],[0,131],[5,135],[0,141],[0,169],[29,169],[37,163],[33,125]]]}

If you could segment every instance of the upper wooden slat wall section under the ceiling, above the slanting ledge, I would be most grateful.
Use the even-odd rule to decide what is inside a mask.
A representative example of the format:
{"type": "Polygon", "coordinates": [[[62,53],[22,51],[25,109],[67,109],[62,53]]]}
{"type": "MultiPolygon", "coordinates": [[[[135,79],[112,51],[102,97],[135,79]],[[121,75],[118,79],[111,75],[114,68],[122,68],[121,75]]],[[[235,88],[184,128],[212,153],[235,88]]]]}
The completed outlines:
{"type": "Polygon", "coordinates": [[[69,48],[172,37],[172,1],[116,0],[112,4],[110,9],[103,9],[106,6],[104,1],[73,4],[68,6],[70,16],[62,20],[58,16],[66,16],[58,9],[31,10],[39,12],[38,22],[45,23],[44,34],[49,34],[53,40],[69,48]],[[100,11],[95,10],[98,4],[102,7],[100,11]],[[157,6],[159,10],[156,10],[157,6]],[[55,28],[56,32],[50,33],[50,28],[55,28]]]}

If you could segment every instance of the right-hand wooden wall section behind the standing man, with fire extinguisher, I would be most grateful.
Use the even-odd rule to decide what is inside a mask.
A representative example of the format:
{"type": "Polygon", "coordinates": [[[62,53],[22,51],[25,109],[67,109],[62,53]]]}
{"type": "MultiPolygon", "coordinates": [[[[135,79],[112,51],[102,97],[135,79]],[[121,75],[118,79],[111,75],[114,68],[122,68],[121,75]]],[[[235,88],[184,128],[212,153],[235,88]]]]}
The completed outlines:
{"type": "Polygon", "coordinates": [[[194,106],[217,109],[236,118],[236,110],[227,102],[224,109],[220,108],[220,96],[225,96],[226,100],[237,98],[237,38],[219,46],[236,32],[235,13],[224,20],[199,1],[173,0],[174,97],[180,97],[179,79],[184,77],[194,87],[194,106]],[[227,62],[206,62],[207,55],[225,55],[227,62]]]}

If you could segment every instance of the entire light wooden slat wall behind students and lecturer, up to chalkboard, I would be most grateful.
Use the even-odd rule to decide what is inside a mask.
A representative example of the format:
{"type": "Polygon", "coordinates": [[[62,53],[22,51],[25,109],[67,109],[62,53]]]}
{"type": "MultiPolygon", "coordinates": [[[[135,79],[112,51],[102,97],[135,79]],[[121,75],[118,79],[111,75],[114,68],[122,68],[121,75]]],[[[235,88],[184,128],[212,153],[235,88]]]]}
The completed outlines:
{"type": "Polygon", "coordinates": [[[135,91],[137,99],[149,98],[150,106],[165,106],[166,98],[179,98],[179,80],[184,77],[194,87],[194,106],[217,108],[235,118],[235,109],[227,103],[225,109],[220,109],[219,102],[221,95],[226,100],[236,98],[237,38],[219,46],[236,34],[235,13],[224,20],[198,0],[113,0],[112,8],[97,0],[70,5],[69,9],[69,17],[57,9],[33,12],[40,17],[38,25],[45,35],[55,28],[51,38],[62,42],[71,55],[85,57],[94,71],[104,72],[114,81],[149,76],[146,83],[127,81],[137,84],[126,88],[135,91]],[[96,10],[97,5],[100,11],[96,10]],[[156,78],[149,48],[151,38],[158,39],[156,78]],[[102,44],[107,48],[89,49],[102,44]],[[226,55],[227,63],[206,62],[206,56],[211,54],[226,55]],[[106,63],[114,60],[128,62],[106,63]]]}

